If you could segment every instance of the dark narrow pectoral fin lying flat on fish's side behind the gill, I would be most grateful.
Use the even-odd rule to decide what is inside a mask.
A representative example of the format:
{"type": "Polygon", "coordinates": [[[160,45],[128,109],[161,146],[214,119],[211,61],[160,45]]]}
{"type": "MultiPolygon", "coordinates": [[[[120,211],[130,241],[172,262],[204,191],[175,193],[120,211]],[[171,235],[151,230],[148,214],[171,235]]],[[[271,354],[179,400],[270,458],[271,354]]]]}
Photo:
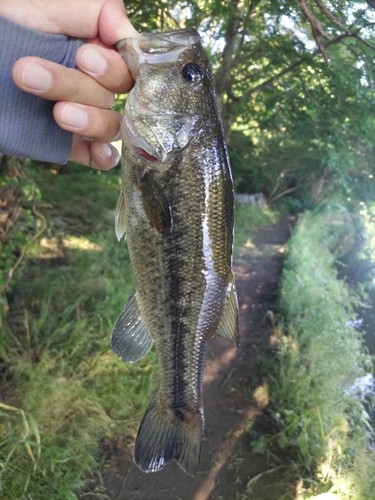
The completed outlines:
{"type": "Polygon", "coordinates": [[[148,220],[159,233],[172,230],[172,213],[168,200],[154,176],[146,172],[139,183],[148,220]]]}

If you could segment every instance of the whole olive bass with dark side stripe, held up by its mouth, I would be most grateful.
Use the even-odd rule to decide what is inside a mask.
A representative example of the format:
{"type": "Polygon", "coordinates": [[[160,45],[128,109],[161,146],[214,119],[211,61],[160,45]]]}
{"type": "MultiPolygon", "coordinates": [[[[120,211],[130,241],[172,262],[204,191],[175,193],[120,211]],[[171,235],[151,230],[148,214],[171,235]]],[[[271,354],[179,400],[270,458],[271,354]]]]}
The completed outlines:
{"type": "Polygon", "coordinates": [[[156,472],[199,467],[207,342],[239,347],[232,272],[234,195],[211,64],[195,29],[118,42],[135,85],[121,124],[116,234],[125,237],[136,292],[111,348],[136,363],[155,344],[160,383],[139,427],[134,463],[156,472]]]}

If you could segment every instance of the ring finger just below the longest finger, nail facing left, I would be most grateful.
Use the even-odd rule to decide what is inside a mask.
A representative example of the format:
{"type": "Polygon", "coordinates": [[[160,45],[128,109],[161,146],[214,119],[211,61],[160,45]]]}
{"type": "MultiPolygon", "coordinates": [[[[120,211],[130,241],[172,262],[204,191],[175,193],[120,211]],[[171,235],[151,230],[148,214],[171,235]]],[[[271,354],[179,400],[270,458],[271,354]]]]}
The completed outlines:
{"type": "Polygon", "coordinates": [[[99,142],[116,140],[122,121],[122,116],[116,111],[66,101],[55,104],[53,116],[64,130],[99,142]]]}

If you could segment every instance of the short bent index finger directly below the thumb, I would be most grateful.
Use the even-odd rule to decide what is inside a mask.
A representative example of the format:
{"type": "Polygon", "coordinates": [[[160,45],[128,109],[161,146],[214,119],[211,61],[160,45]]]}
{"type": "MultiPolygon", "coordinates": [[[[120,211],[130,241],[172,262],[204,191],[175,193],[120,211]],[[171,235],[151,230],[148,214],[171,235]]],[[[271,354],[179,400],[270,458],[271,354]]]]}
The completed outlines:
{"type": "Polygon", "coordinates": [[[134,80],[118,52],[92,43],[82,45],[76,53],[77,66],[112,92],[129,92],[134,80]]]}

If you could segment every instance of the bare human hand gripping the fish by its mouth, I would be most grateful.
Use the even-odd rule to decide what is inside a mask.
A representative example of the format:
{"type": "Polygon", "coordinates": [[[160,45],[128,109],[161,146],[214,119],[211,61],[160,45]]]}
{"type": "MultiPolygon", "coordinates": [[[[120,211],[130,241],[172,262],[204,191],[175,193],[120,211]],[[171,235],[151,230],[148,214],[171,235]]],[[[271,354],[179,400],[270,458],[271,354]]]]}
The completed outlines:
{"type": "Polygon", "coordinates": [[[25,92],[59,101],[57,124],[73,132],[70,159],[107,170],[117,164],[121,115],[110,110],[114,93],[128,92],[132,77],[114,50],[121,38],[137,35],[121,0],[2,0],[0,14],[28,28],[52,34],[89,38],[79,48],[71,69],[38,57],[19,59],[15,84],[25,92]],[[91,139],[91,140],[90,140],[91,139]]]}

